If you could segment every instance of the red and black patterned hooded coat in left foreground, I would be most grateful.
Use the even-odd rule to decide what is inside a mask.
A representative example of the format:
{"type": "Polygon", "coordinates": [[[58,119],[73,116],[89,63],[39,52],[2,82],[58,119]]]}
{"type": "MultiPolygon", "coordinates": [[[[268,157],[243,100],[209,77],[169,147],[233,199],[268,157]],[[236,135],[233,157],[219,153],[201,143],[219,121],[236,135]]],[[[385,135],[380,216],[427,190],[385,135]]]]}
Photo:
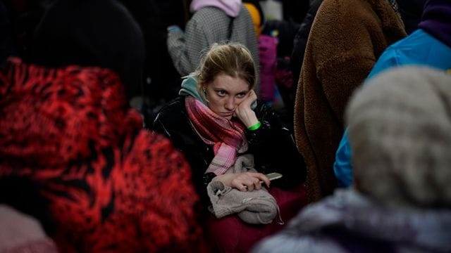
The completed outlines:
{"type": "Polygon", "coordinates": [[[8,176],[42,186],[61,252],[207,250],[189,165],[167,138],[142,130],[109,70],[9,61],[0,72],[8,176]]]}

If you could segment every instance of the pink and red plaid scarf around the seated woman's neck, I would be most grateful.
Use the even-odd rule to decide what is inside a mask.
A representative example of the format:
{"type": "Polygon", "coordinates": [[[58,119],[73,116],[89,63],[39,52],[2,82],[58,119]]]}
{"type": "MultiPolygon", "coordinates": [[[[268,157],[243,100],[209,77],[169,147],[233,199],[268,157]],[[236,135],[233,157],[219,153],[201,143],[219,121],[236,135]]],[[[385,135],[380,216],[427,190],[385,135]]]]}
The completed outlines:
{"type": "Polygon", "coordinates": [[[214,145],[215,156],[205,173],[226,173],[235,164],[237,153],[247,150],[245,126],[241,122],[216,115],[192,96],[186,96],[185,107],[197,134],[205,143],[214,145]]]}

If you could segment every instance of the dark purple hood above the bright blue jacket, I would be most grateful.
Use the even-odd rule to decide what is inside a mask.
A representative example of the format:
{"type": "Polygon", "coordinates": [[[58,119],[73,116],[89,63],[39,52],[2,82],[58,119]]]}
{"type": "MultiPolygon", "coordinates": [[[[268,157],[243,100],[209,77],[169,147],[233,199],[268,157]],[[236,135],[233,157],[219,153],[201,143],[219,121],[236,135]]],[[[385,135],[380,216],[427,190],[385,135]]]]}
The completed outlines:
{"type": "Polygon", "coordinates": [[[451,47],[451,1],[428,0],[419,27],[451,47]]]}

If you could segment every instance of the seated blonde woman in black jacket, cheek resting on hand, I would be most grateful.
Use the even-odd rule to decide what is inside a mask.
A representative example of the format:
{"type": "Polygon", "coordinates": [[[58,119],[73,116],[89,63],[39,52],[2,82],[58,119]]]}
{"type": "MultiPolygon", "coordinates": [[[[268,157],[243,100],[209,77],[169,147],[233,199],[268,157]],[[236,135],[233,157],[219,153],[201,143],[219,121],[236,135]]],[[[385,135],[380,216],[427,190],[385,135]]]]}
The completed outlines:
{"type": "MultiPolygon", "coordinates": [[[[304,160],[291,129],[257,100],[252,89],[255,83],[254,61],[245,46],[214,44],[198,70],[183,80],[180,96],[156,116],[154,130],[171,138],[185,154],[204,206],[211,204],[207,194],[211,181],[252,192],[269,188],[266,174],[283,174],[282,179],[271,182],[268,191],[278,202],[281,218],[287,221],[305,204],[301,184],[304,160]],[[253,155],[257,172],[230,173],[228,169],[237,157],[245,154],[253,155]]],[[[254,242],[282,228],[276,221],[251,226],[235,215],[208,217],[207,229],[214,230],[209,234],[221,250],[229,252],[247,252],[254,242]]]]}

